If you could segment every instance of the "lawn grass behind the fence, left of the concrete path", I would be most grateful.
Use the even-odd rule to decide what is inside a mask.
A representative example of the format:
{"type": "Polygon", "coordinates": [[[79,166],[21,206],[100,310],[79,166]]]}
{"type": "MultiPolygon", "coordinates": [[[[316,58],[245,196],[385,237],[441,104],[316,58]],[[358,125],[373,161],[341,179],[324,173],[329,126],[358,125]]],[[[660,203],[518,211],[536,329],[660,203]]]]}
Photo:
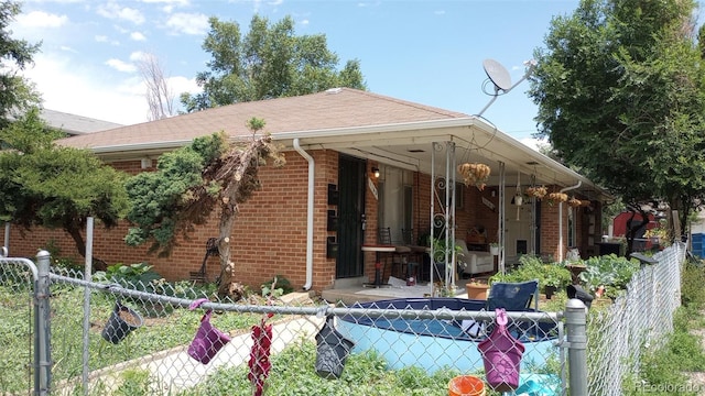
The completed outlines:
{"type": "MultiPolygon", "coordinates": [[[[31,301],[29,289],[0,286],[0,389],[6,392],[22,393],[33,385],[30,371],[33,363],[31,301]]],[[[111,295],[91,294],[91,328],[88,332],[88,365],[91,371],[188,344],[203,315],[200,310],[169,309],[166,316],[148,318],[140,304],[126,300],[123,304],[143,312],[144,324],[120,343],[112,344],[102,339],[101,330],[115,304],[111,295]]],[[[83,372],[84,289],[56,285],[52,287],[50,306],[52,381],[56,384],[80,377],[83,372]]],[[[220,329],[234,331],[249,329],[260,318],[261,315],[256,314],[214,315],[212,322],[220,329]]]]}

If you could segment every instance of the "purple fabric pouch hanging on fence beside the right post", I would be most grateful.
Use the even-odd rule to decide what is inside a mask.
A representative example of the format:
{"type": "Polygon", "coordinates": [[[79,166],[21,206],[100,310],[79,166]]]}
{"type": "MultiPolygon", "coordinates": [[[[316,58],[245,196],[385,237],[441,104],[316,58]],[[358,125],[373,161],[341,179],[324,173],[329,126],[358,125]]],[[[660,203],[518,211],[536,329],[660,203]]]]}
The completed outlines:
{"type": "Polygon", "coordinates": [[[524,345],[507,330],[507,311],[495,309],[495,329],[477,348],[482,353],[487,384],[497,392],[519,387],[519,369],[524,345]]]}

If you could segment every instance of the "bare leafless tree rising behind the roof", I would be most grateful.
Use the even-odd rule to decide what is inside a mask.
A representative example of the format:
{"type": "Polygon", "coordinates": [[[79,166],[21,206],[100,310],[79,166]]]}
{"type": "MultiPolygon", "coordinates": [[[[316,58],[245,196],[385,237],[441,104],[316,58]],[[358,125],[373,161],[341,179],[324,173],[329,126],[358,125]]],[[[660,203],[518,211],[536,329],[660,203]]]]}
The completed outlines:
{"type": "Polygon", "coordinates": [[[164,75],[164,68],[156,55],[143,54],[137,61],[137,66],[147,86],[149,120],[155,121],[175,116],[174,100],[176,97],[169,86],[169,79],[164,75]]]}

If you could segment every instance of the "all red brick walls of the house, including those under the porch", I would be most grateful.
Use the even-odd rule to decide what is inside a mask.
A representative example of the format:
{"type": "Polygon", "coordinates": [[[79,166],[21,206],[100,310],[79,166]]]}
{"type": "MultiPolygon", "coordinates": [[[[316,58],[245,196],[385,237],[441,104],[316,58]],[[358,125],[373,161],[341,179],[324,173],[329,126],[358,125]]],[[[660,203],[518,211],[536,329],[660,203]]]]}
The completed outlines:
{"type": "MultiPolygon", "coordinates": [[[[327,185],[338,184],[338,153],[335,151],[311,151],[315,161],[315,204],[314,204],[314,251],[313,251],[313,284],[315,290],[333,287],[335,280],[335,258],[326,257],[326,238],[335,235],[327,231],[327,210],[334,209],[327,205],[327,185]]],[[[139,161],[111,164],[116,168],[137,174],[143,172],[139,161]]],[[[367,175],[371,167],[379,166],[369,161],[367,175]]],[[[263,166],[259,176],[262,189],[254,193],[252,198],[239,207],[240,212],[235,222],[231,234],[232,261],[236,264],[236,278],[251,287],[259,289],[259,285],[274,275],[283,275],[295,288],[306,282],[306,197],[307,197],[307,162],[295,152],[286,153],[286,165],[282,168],[263,166]]],[[[151,168],[150,170],[153,170],[151,168]]],[[[375,183],[375,178],[372,178],[375,183]]],[[[430,230],[431,176],[414,173],[414,239],[421,232],[430,230]]],[[[491,196],[494,187],[479,191],[476,187],[466,187],[465,207],[458,209],[458,238],[465,238],[470,227],[481,224],[487,230],[490,241],[497,235],[498,198],[491,196]],[[491,211],[481,202],[481,197],[496,205],[491,211]]],[[[367,184],[365,185],[367,232],[365,243],[376,243],[377,234],[377,200],[367,184]]],[[[550,253],[557,257],[557,205],[542,207],[542,239],[540,253],[550,253]]],[[[595,230],[599,224],[599,207],[596,207],[595,230]]],[[[148,254],[149,246],[130,248],[123,242],[128,224],[121,223],[113,230],[106,231],[98,222],[95,224],[94,256],[105,260],[108,264],[132,264],[148,262],[154,265],[169,280],[188,278],[188,273],[197,271],[205,254],[208,238],[217,237],[217,213],[205,226],[196,228],[187,240],[180,240],[169,257],[158,257],[148,254]]],[[[567,243],[567,212],[563,213],[563,238],[567,243]]],[[[581,221],[581,217],[577,217],[581,221]]],[[[577,240],[582,240],[582,230],[577,227],[577,240]]],[[[4,227],[0,228],[0,235],[4,238],[4,227]]],[[[598,241],[599,235],[596,241],[598,241]]],[[[73,257],[77,263],[84,258],[75,252],[75,245],[68,234],[61,230],[33,229],[30,232],[11,228],[10,254],[12,256],[34,257],[39,250],[54,246],[59,250],[59,256],[73,257]]],[[[565,252],[564,252],[565,254],[565,252]]],[[[365,274],[371,280],[375,276],[373,253],[365,255],[365,274]]],[[[208,258],[208,278],[219,274],[219,260],[208,258]]]]}

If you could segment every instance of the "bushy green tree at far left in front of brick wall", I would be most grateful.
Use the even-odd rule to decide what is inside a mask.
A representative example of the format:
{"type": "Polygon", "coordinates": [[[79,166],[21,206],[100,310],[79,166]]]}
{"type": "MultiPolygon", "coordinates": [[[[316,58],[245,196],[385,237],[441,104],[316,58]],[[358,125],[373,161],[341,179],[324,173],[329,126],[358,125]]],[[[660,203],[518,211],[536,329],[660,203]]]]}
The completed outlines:
{"type": "Polygon", "coordinates": [[[124,216],[126,175],[89,151],[56,146],[57,135],[36,109],[0,130],[0,220],[64,229],[85,255],[87,218],[111,228],[124,216]]]}

